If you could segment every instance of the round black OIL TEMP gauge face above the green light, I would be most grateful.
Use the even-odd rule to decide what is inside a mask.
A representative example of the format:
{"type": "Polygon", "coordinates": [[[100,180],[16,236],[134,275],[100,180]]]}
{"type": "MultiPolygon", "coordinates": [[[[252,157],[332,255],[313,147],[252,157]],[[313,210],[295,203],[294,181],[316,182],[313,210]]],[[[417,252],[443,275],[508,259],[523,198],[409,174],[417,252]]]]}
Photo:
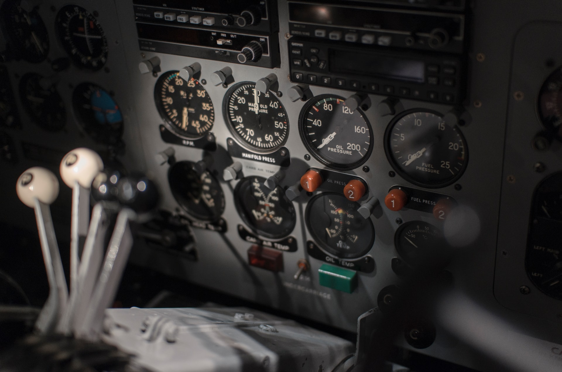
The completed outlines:
{"type": "Polygon", "coordinates": [[[314,240],[328,253],[340,258],[365,255],[373,247],[375,229],[342,194],[322,193],[306,207],[306,225],[314,240]]]}

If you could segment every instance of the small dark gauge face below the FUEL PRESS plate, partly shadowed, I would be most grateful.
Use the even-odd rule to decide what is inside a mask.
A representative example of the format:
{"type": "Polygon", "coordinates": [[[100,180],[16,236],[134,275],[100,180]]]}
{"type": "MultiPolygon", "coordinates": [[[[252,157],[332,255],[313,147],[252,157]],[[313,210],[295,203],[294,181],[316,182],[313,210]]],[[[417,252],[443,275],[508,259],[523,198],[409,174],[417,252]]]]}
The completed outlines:
{"type": "Polygon", "coordinates": [[[423,221],[411,221],[400,226],[395,235],[396,250],[410,265],[439,267],[448,259],[441,230],[423,221]]]}

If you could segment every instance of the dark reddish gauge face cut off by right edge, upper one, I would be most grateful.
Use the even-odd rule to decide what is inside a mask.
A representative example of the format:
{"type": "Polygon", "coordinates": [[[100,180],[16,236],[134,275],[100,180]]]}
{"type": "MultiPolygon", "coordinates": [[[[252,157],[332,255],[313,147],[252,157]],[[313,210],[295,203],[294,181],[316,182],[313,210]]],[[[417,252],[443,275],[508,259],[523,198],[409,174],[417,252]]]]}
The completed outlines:
{"type": "Polygon", "coordinates": [[[552,72],[542,84],[538,115],[546,130],[562,140],[562,67],[552,72]]]}

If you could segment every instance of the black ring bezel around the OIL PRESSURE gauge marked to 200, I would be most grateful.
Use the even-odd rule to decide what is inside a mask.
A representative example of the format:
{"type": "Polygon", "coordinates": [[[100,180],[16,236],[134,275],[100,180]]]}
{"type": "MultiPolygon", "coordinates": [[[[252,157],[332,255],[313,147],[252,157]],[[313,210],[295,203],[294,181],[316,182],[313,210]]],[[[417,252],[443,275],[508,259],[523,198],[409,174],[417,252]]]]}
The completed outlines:
{"type": "Polygon", "coordinates": [[[357,108],[355,111],[359,111],[359,113],[361,114],[361,116],[363,117],[363,119],[365,119],[365,123],[366,125],[369,127],[369,135],[370,135],[370,143],[369,143],[369,148],[367,150],[367,152],[365,153],[365,156],[361,158],[360,161],[356,161],[352,164],[340,164],[340,163],[334,163],[331,162],[329,160],[324,159],[323,157],[320,156],[320,154],[317,152],[317,150],[310,145],[310,143],[308,142],[308,140],[306,139],[305,136],[305,115],[307,114],[307,112],[309,112],[310,107],[314,106],[314,104],[318,101],[320,101],[323,98],[336,98],[336,99],[341,99],[342,101],[345,102],[345,98],[341,97],[341,96],[337,96],[336,94],[320,94],[319,96],[314,96],[312,98],[309,99],[309,101],[306,102],[305,106],[302,107],[300,114],[298,115],[298,134],[301,136],[301,142],[305,145],[306,149],[312,154],[312,156],[314,156],[314,158],[316,160],[318,160],[319,162],[321,162],[322,164],[332,168],[332,169],[336,169],[336,170],[352,170],[352,169],[356,169],[358,167],[360,167],[361,165],[365,164],[365,162],[367,160],[369,160],[369,158],[371,157],[371,153],[373,153],[373,147],[374,147],[374,134],[373,134],[373,126],[371,125],[369,119],[367,119],[367,116],[365,115],[365,112],[362,111],[360,108],[357,108]]]}

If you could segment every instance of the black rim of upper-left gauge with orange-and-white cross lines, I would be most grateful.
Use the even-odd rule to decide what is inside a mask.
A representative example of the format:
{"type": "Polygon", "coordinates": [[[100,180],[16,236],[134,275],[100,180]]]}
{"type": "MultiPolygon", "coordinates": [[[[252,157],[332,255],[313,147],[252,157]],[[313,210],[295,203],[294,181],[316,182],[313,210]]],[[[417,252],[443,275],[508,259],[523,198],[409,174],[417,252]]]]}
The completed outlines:
{"type": "MultiPolygon", "coordinates": [[[[70,25],[69,25],[70,27],[70,25]]],[[[89,10],[87,10],[86,8],[84,8],[83,6],[80,6],[78,4],[66,4],[64,6],[62,6],[56,16],[55,16],[55,28],[56,28],[56,34],[57,34],[57,39],[58,42],[60,43],[60,45],[62,46],[62,48],[64,49],[64,51],[66,52],[67,56],[69,56],[70,60],[72,61],[72,64],[77,66],[79,69],[85,69],[85,70],[90,70],[90,71],[99,71],[103,68],[103,66],[106,65],[107,60],[108,60],[108,56],[109,56],[109,43],[107,40],[107,35],[105,33],[105,31],[103,30],[103,27],[101,25],[101,23],[99,23],[98,17],[94,16],[93,12],[90,12],[89,10]],[[105,57],[105,61],[103,61],[102,63],[99,63],[98,66],[93,66],[91,63],[83,63],[80,61],[80,58],[78,57],[78,55],[74,55],[72,54],[72,49],[70,46],[69,42],[65,42],[65,33],[64,30],[65,28],[62,26],[62,24],[66,21],[69,21],[70,18],[66,16],[65,12],[69,9],[71,9],[72,11],[74,11],[74,8],[78,7],[80,12],[84,12],[84,13],[88,13],[90,16],[92,16],[92,18],[94,20],[96,20],[96,25],[99,28],[100,32],[101,32],[101,39],[103,41],[103,48],[102,48],[102,54],[99,55],[96,58],[99,57],[105,57]]]]}

